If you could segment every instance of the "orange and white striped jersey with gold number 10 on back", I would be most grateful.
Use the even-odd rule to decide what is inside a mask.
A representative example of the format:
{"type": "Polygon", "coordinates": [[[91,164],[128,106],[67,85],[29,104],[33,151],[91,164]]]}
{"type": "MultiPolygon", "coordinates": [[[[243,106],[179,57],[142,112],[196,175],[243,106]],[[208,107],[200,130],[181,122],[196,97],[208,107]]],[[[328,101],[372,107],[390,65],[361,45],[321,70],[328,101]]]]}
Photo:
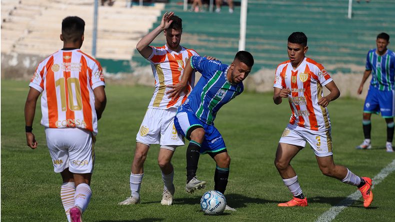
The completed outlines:
{"type": "Polygon", "coordinates": [[[80,49],[58,50],[41,61],[29,86],[42,93],[41,125],[97,133],[93,89],[104,85],[100,63],[80,49]]]}

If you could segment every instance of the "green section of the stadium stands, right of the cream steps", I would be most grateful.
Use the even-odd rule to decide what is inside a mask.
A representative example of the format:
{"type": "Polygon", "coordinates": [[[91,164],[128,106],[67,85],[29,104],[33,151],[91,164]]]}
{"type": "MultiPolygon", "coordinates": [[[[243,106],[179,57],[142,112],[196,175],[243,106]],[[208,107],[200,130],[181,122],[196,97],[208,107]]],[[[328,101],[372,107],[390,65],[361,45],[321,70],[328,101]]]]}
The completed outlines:
{"type": "MultiPolygon", "coordinates": [[[[182,44],[230,62],[238,49],[239,6],[232,14],[226,5],[221,13],[195,13],[183,11],[181,2],[170,0],[164,10],[183,19],[182,44]]],[[[329,70],[347,73],[350,63],[363,67],[379,32],[395,38],[395,1],[354,1],[352,19],[347,18],[347,10],[348,0],[248,0],[246,50],[254,55],[256,68],[275,68],[287,59],[288,35],[303,31],[308,36],[307,55],[329,70]]],[[[162,45],[163,40],[154,43],[162,45]]],[[[140,56],[133,61],[146,63],[140,56]]]]}

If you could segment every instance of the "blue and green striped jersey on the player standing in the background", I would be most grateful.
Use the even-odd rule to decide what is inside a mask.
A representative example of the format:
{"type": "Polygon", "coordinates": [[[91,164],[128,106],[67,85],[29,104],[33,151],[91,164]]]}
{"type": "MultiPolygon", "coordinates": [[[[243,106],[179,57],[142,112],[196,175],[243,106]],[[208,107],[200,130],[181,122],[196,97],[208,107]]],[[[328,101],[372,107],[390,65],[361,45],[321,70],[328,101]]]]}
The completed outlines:
{"type": "Polygon", "coordinates": [[[394,86],[395,53],[387,51],[379,56],[376,49],[370,49],[366,56],[366,70],[371,70],[370,85],[380,91],[391,91],[394,86]]]}

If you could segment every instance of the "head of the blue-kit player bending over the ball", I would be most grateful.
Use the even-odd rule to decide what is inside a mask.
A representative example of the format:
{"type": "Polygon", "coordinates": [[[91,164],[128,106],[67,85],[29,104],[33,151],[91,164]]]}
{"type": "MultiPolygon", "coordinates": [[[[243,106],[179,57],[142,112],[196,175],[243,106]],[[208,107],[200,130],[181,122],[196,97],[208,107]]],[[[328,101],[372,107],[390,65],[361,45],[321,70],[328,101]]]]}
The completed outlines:
{"type": "Polygon", "coordinates": [[[252,54],[248,51],[238,51],[229,67],[230,82],[239,83],[244,80],[251,71],[252,65],[252,54]]]}

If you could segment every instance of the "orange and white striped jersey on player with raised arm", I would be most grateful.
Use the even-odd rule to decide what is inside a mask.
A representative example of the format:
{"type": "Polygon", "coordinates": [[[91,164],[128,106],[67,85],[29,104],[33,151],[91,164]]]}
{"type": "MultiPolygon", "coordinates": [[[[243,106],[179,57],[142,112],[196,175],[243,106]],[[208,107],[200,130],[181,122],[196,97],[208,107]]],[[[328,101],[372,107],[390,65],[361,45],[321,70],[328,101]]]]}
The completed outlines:
{"type": "Polygon", "coordinates": [[[188,93],[181,93],[178,97],[168,98],[166,91],[168,84],[176,84],[181,80],[186,61],[192,55],[199,55],[193,49],[181,46],[180,52],[175,52],[163,45],[161,47],[152,47],[152,54],[147,58],[151,62],[153,76],[155,78],[155,91],[153,92],[149,108],[167,109],[170,107],[177,108],[188,96],[194,86],[194,71],[188,81],[188,93]]]}

